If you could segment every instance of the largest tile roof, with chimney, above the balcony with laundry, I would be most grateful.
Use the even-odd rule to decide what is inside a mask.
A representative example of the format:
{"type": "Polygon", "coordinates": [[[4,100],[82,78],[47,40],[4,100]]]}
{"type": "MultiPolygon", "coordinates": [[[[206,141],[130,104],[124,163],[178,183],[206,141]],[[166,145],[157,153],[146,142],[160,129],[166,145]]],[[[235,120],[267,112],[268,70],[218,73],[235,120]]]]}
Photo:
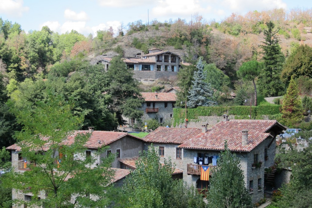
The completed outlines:
{"type": "Polygon", "coordinates": [[[280,130],[286,128],[276,120],[230,120],[222,121],[209,129],[206,133],[191,137],[188,141],[179,145],[187,149],[224,150],[224,141],[227,140],[231,151],[250,152],[264,139],[272,137],[267,133],[272,127],[278,126],[280,130]],[[248,144],[241,145],[241,131],[247,129],[248,144]]]}

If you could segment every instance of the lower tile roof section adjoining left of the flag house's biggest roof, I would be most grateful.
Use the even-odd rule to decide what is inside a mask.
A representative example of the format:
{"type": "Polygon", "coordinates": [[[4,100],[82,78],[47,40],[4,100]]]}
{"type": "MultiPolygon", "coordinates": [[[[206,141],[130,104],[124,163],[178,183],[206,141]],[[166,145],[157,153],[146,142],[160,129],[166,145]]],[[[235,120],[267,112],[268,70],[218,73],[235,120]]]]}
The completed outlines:
{"type": "Polygon", "coordinates": [[[182,144],[199,133],[202,133],[202,130],[199,128],[158,127],[155,131],[144,137],[144,139],[150,143],[182,144]]]}

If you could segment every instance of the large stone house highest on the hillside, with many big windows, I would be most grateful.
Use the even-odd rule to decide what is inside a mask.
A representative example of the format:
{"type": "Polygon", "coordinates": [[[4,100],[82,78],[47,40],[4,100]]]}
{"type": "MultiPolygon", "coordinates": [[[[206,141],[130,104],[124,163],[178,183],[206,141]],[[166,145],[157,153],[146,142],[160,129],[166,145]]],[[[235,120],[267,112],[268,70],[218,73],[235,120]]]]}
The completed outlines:
{"type": "MultiPolygon", "coordinates": [[[[139,58],[124,58],[129,69],[133,69],[137,80],[156,80],[161,77],[176,76],[179,71],[180,56],[170,51],[158,48],[148,50],[148,54],[141,53],[139,58]]],[[[108,70],[112,58],[101,57],[101,63],[108,70]]]]}

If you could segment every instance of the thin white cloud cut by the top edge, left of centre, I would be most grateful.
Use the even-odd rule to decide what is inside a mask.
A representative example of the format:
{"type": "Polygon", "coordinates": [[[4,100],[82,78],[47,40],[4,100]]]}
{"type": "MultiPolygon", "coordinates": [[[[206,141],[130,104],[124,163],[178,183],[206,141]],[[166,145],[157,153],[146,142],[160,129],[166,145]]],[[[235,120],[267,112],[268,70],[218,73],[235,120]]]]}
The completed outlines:
{"type": "Polygon", "coordinates": [[[139,5],[149,6],[155,3],[155,0],[98,0],[98,2],[103,7],[132,7],[139,5]]]}

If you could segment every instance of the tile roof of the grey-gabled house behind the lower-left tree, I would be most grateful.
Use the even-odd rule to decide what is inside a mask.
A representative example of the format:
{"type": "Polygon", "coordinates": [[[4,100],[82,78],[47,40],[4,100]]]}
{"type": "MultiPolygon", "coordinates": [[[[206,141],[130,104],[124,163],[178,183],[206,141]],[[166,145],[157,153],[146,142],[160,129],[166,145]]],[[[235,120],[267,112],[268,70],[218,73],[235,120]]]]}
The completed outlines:
{"type": "MultiPolygon", "coordinates": [[[[78,133],[81,134],[86,134],[89,133],[88,130],[85,131],[75,131],[72,135],[68,137],[68,140],[65,141],[65,145],[71,145],[74,143],[74,139],[78,133]]],[[[144,141],[142,138],[133,136],[131,134],[125,133],[125,132],[111,132],[111,131],[93,131],[89,140],[85,143],[85,147],[87,148],[100,148],[105,145],[109,145],[112,142],[117,141],[120,138],[123,138],[125,136],[131,137],[131,138],[136,138],[141,141],[144,141]],[[101,143],[98,143],[98,140],[101,141],[101,143]]],[[[48,149],[48,146],[43,147],[44,150],[48,149]]],[[[13,144],[6,149],[11,149],[11,150],[16,150],[16,151],[21,151],[21,148],[18,146],[18,144],[13,144]]]]}

